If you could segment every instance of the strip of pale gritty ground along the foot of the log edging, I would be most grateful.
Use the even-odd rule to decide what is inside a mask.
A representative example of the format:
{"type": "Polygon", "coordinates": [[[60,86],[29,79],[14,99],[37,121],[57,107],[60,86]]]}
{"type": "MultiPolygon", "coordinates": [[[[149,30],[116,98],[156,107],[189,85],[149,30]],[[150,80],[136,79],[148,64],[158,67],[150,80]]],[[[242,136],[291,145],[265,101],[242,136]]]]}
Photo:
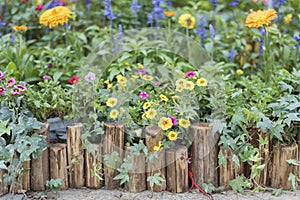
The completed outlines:
{"type": "MultiPolygon", "coordinates": [[[[25,195],[16,195],[13,200],[26,199],[50,199],[50,193],[28,193],[25,195]],[[47,196],[48,195],[48,196],[47,196]]],[[[0,200],[11,199],[10,195],[0,197],[0,200]]],[[[284,191],[279,197],[272,196],[269,192],[247,192],[246,195],[236,194],[228,191],[222,194],[214,194],[214,200],[299,200],[300,190],[296,192],[284,191]]],[[[69,189],[60,191],[58,195],[60,200],[207,200],[205,196],[199,193],[181,193],[173,194],[170,192],[153,193],[145,191],[141,193],[129,193],[120,190],[91,190],[91,189],[69,189]]]]}

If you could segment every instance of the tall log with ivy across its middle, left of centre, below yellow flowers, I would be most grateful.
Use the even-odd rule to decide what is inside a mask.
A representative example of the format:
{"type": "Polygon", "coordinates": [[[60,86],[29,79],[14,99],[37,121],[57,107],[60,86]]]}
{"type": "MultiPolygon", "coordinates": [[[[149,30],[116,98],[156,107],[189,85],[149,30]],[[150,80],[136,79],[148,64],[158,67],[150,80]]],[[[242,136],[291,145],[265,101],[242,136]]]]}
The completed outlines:
{"type": "MultiPolygon", "coordinates": [[[[123,159],[124,152],[124,125],[122,123],[105,123],[105,138],[104,138],[104,155],[117,152],[123,159]]],[[[115,169],[111,166],[107,166],[104,162],[104,184],[105,189],[113,190],[120,187],[120,181],[113,180],[118,175],[117,168],[120,167],[120,163],[116,163],[115,169]]]]}

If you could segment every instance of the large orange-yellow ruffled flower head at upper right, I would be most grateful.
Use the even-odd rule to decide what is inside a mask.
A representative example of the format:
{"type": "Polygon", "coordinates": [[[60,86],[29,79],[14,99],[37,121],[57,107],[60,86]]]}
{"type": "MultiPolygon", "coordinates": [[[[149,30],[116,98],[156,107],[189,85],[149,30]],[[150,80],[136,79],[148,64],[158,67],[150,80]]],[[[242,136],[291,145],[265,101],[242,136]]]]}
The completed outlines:
{"type": "Polygon", "coordinates": [[[277,18],[277,12],[274,9],[258,10],[248,15],[245,25],[249,28],[260,28],[269,26],[273,19],[277,18]]]}

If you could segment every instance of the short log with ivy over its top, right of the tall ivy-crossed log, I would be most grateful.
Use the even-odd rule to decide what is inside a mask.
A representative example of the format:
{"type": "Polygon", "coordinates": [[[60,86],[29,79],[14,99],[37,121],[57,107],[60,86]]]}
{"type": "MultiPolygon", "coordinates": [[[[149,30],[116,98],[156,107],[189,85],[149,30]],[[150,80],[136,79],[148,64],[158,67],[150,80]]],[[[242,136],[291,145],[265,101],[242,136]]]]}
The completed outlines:
{"type": "Polygon", "coordinates": [[[125,183],[125,189],[134,193],[146,190],[146,158],[144,153],[140,152],[139,155],[134,155],[127,149],[125,156],[130,156],[134,166],[134,170],[128,173],[129,182],[125,183]]]}

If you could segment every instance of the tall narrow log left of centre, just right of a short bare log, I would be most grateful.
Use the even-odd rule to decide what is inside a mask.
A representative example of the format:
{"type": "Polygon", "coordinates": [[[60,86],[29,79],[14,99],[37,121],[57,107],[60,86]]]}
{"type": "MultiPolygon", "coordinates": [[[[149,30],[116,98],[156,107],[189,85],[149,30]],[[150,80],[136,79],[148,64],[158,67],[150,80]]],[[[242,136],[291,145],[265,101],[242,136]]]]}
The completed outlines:
{"type": "Polygon", "coordinates": [[[82,124],[67,126],[67,157],[69,166],[69,187],[84,186],[84,151],[82,148],[82,124]]]}

